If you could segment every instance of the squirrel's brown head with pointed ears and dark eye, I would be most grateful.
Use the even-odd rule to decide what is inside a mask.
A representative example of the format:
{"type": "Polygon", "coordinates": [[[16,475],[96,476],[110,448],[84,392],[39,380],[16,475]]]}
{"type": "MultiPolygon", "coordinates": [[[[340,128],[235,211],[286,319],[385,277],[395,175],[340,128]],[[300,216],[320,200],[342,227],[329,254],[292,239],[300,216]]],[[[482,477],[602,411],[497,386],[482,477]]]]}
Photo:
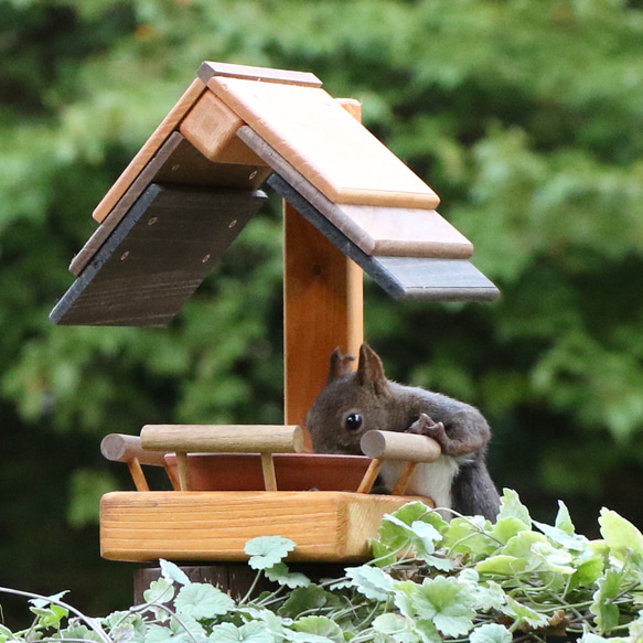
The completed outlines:
{"type": "Polygon", "coordinates": [[[331,355],[328,382],[307,417],[315,453],[361,453],[360,440],[388,425],[393,397],[382,360],[368,344],[360,347],[357,371],[353,355],[339,349],[331,355]]]}

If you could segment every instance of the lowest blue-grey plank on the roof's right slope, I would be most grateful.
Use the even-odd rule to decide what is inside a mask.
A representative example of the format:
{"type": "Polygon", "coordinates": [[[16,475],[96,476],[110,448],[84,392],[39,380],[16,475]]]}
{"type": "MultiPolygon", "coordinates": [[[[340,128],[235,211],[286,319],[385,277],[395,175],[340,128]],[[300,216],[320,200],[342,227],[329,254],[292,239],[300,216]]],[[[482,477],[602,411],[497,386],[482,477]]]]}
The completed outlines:
{"type": "Polygon", "coordinates": [[[272,174],[268,179],[268,185],[394,299],[482,302],[500,297],[497,288],[465,259],[366,255],[281,176],[272,174]]]}

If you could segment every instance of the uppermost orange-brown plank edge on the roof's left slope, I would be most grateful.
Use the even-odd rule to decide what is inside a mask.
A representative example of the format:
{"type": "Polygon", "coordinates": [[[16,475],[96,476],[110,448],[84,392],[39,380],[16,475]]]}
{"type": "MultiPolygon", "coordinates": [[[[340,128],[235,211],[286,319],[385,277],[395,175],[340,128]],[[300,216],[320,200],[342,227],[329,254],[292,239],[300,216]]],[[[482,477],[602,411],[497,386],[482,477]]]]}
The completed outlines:
{"type": "Polygon", "coordinates": [[[179,127],[183,117],[196,103],[199,97],[205,92],[205,84],[200,78],[195,78],[176,105],[172,107],[168,116],[163,118],[152,136],[146,141],[143,147],[137,152],[122,174],[116,180],[107,194],[94,210],[92,216],[98,223],[103,222],[111,212],[118,200],[127,192],[128,187],[148,164],[157,150],[168,140],[168,137],[179,127]]]}

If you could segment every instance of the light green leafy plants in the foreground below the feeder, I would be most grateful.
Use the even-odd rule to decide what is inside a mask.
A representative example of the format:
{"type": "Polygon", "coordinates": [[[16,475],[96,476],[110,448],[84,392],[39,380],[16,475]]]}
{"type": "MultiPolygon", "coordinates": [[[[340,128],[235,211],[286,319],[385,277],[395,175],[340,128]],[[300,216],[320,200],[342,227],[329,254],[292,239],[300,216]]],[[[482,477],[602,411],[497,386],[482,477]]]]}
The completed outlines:
{"type": "Polygon", "coordinates": [[[393,561],[347,568],[344,579],[287,589],[282,559],[294,544],[262,536],[249,540],[246,553],[256,551],[249,562],[257,579],[281,568],[274,591],[235,601],[162,560],[163,578],[144,592],[144,604],[95,620],[71,615],[62,594],[32,598],[35,621],[18,632],[0,626],[0,643],[43,636],[101,643],[510,643],[554,634],[582,643],[635,643],[643,628],[643,535],[613,511],[603,510],[599,523],[602,539],[576,534],[562,503],[554,525],[533,521],[508,490],[495,525],[469,516],[447,523],[412,503],[385,516],[375,540],[382,547],[395,543],[393,561]],[[507,524],[521,526],[503,542],[497,534],[507,524]],[[431,557],[448,566],[427,564],[427,538],[431,557]],[[480,539],[489,544],[485,551],[480,539]],[[588,576],[590,560],[596,565],[588,576]]]}

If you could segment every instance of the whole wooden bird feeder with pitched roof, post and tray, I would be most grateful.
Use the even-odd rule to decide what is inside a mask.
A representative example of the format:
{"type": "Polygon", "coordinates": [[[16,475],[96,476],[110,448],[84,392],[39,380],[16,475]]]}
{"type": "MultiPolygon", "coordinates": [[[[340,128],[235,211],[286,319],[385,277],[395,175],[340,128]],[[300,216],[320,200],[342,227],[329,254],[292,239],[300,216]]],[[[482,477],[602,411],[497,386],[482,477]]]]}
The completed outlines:
{"type": "Polygon", "coordinates": [[[357,101],[321,85],[309,73],[203,63],[94,211],[56,324],[168,324],[260,210],[260,189],[285,201],[285,425],[108,436],[104,454],[128,463],[137,491],[103,497],[106,558],[243,560],[246,540],[275,534],[297,543],[293,560],[363,559],[382,515],[409,500],[415,464],[439,456],[430,438],[384,432],[364,437],[364,457],[300,452],[329,355],[363,341],[363,272],[398,300],[499,296],[470,262],[472,244],[436,212],[433,190],[362,126],[357,101]],[[399,483],[369,494],[386,459],[407,461],[399,483]],[[150,491],[141,464],[163,467],[173,491],[150,491]],[[354,480],[337,489],[309,467],[335,478],[349,468],[354,480]],[[218,483],[204,482],[207,470],[224,472],[218,483]]]}

